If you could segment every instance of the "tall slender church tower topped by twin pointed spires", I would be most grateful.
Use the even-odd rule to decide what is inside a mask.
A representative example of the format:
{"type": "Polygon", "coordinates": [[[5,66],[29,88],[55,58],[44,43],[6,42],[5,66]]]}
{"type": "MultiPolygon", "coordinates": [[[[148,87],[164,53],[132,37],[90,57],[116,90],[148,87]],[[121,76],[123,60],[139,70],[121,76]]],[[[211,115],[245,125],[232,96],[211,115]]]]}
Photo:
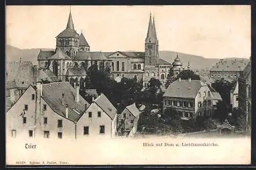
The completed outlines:
{"type": "Polygon", "coordinates": [[[159,57],[158,53],[158,40],[155,27],[155,18],[153,23],[150,14],[150,21],[148,23],[147,36],[145,39],[145,69],[156,68],[156,58],[159,57]]]}

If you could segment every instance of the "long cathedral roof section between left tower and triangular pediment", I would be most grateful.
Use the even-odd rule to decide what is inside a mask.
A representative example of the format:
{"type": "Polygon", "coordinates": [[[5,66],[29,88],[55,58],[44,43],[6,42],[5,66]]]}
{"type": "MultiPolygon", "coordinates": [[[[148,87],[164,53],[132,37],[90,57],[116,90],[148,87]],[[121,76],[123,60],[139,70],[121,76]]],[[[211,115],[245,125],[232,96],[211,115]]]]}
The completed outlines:
{"type": "Polygon", "coordinates": [[[79,52],[74,60],[109,60],[101,52],[79,52]]]}

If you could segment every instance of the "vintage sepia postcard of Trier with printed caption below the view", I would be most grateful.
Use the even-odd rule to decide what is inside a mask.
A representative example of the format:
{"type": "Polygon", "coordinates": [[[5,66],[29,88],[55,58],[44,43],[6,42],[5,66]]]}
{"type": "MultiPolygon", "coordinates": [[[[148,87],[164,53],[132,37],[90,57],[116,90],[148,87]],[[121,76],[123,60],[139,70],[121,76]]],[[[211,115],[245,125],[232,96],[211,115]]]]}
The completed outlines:
{"type": "Polygon", "coordinates": [[[6,165],[251,163],[250,6],[6,6],[6,165]]]}

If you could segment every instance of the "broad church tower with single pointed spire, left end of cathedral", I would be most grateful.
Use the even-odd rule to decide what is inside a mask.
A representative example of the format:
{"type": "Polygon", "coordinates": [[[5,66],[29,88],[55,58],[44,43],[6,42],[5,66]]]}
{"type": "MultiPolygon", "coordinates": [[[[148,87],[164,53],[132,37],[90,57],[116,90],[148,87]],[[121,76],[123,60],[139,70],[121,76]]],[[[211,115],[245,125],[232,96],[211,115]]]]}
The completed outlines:
{"type": "Polygon", "coordinates": [[[71,10],[66,29],[56,37],[56,50],[61,50],[72,59],[79,51],[79,34],[75,31],[71,10]]]}

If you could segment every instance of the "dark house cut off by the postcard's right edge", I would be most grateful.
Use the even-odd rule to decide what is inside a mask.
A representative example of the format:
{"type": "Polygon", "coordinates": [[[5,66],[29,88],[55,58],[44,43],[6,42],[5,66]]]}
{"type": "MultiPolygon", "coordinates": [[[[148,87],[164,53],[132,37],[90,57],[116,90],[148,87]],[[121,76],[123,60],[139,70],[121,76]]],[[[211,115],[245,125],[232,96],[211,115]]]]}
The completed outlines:
{"type": "MultiPolygon", "coordinates": [[[[251,61],[238,79],[238,107],[245,112],[248,128],[251,128],[251,61]]],[[[248,128],[246,130],[248,130],[248,128]]]]}

